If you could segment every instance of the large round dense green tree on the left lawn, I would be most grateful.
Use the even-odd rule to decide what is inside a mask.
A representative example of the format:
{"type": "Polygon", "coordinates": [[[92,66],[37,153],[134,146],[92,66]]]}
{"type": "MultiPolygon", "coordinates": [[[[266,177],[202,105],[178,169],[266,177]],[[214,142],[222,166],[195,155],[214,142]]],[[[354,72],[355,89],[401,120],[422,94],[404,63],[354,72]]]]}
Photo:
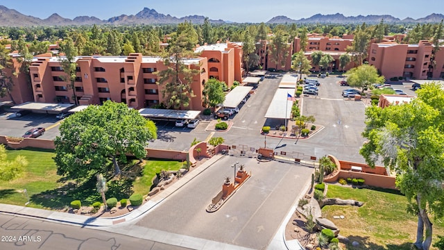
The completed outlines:
{"type": "Polygon", "coordinates": [[[114,174],[120,174],[119,163],[126,163],[127,154],[144,158],[148,140],[157,138],[151,120],[125,103],[112,101],[67,117],[59,131],[54,140],[57,173],[80,181],[108,174],[110,162],[114,174]]]}

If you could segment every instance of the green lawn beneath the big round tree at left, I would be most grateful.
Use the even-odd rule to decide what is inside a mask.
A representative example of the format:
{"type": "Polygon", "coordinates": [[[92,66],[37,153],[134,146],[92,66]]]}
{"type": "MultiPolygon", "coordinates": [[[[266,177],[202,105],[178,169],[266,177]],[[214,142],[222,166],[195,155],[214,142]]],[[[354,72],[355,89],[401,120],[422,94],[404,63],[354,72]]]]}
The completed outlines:
{"type": "MultiPolygon", "coordinates": [[[[91,205],[94,201],[101,201],[96,192],[96,180],[76,185],[74,181],[61,181],[57,175],[56,163],[53,161],[55,153],[42,149],[7,150],[8,160],[16,156],[25,156],[28,166],[19,178],[13,181],[0,181],[0,203],[33,208],[64,209],[74,199],[82,201],[83,205],[91,205]],[[24,192],[27,190],[28,197],[24,192]]],[[[172,160],[131,160],[127,165],[121,165],[124,173],[131,173],[134,178],[119,178],[108,181],[106,197],[117,199],[128,198],[130,194],[147,194],[151,189],[151,181],[156,173],[165,170],[178,170],[182,162],[172,160]]]]}

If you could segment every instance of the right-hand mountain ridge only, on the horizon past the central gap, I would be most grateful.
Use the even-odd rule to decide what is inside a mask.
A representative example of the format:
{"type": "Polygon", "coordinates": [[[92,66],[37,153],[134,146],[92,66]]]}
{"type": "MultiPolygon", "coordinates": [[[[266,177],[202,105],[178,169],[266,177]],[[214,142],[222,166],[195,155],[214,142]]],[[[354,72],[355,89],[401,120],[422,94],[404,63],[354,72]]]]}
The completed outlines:
{"type": "Polygon", "coordinates": [[[365,22],[366,24],[378,24],[384,19],[384,23],[401,23],[401,22],[421,22],[421,23],[436,23],[441,22],[441,19],[444,18],[444,15],[441,14],[432,14],[427,17],[420,19],[412,19],[410,17],[401,20],[399,18],[393,17],[391,15],[358,15],[356,17],[345,17],[340,13],[332,14],[332,15],[322,15],[316,14],[309,18],[302,19],[290,19],[285,16],[277,16],[268,20],[268,24],[284,24],[284,23],[299,23],[299,24],[361,24],[365,22]]]}

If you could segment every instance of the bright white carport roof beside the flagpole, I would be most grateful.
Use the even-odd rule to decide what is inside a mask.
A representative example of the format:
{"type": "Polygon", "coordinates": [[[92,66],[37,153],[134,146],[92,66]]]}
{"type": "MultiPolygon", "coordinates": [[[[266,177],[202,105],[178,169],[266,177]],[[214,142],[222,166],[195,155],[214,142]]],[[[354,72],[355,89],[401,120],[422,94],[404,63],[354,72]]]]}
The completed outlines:
{"type": "Polygon", "coordinates": [[[276,90],[271,100],[268,110],[266,110],[265,118],[289,119],[291,117],[291,106],[293,101],[288,101],[287,94],[294,96],[294,90],[291,88],[279,88],[276,90]],[[285,107],[287,106],[287,111],[285,107]]]}

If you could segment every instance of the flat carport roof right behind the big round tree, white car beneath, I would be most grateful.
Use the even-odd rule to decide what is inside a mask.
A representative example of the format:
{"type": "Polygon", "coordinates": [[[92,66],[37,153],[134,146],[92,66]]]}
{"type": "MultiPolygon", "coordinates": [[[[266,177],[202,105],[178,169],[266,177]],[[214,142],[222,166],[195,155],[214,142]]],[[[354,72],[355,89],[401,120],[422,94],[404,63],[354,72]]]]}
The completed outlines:
{"type": "Polygon", "coordinates": [[[141,108],[139,114],[145,118],[170,121],[175,119],[196,119],[199,110],[167,110],[161,108],[141,108]]]}

